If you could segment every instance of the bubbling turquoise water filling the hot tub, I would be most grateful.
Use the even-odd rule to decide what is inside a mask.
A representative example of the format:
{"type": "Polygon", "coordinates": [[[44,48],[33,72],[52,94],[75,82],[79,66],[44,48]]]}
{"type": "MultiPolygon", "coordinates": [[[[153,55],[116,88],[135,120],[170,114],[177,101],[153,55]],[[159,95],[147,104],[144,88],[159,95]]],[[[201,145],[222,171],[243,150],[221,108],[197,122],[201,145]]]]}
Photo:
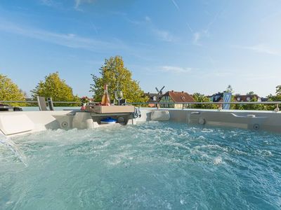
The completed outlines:
{"type": "Polygon", "coordinates": [[[0,144],[0,209],[280,209],[281,136],[144,123],[0,144]]]}

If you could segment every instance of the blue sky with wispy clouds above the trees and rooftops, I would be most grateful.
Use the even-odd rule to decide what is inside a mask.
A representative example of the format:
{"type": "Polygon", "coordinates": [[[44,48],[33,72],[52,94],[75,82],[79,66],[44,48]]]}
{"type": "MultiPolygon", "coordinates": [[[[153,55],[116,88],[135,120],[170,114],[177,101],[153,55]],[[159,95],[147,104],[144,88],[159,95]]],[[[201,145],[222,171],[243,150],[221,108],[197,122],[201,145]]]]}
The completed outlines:
{"type": "Polygon", "coordinates": [[[279,0],[0,0],[0,73],[30,94],[59,71],[88,95],[91,73],[121,55],[146,92],[275,93],[279,0]]]}

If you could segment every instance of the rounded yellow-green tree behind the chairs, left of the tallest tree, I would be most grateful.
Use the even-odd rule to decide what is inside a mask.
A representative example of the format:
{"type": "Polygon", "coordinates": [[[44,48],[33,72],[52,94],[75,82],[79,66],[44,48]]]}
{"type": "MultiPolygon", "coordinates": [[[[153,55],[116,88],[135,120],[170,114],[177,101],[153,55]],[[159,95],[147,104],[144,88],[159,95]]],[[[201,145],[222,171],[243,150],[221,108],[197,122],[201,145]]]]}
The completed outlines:
{"type": "MultiPolygon", "coordinates": [[[[44,81],[39,81],[32,92],[32,98],[37,100],[37,96],[52,97],[56,102],[80,102],[79,97],[74,96],[72,88],[60,79],[58,72],[45,76],[44,81]]],[[[55,104],[55,106],[66,106],[66,104],[55,104]]],[[[77,106],[72,104],[71,106],[77,106]]]]}

